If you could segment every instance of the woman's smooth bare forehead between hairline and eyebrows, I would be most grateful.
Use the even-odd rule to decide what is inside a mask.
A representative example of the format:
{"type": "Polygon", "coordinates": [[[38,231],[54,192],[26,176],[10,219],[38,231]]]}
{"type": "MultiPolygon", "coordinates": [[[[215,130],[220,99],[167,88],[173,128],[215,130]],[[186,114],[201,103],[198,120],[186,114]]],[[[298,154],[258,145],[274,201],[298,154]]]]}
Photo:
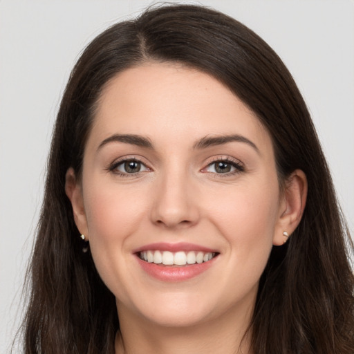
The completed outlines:
{"type": "Polygon", "coordinates": [[[91,135],[140,134],[152,140],[190,142],[210,134],[242,134],[271,145],[259,119],[221,82],[178,64],[129,68],[106,84],[91,135]]]}

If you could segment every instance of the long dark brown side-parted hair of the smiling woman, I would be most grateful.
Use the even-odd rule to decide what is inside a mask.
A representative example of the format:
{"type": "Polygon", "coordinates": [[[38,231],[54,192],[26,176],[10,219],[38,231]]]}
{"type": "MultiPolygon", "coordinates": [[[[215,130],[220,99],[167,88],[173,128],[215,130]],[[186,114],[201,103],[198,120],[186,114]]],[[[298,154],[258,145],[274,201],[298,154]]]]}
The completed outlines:
{"type": "Polygon", "coordinates": [[[259,284],[250,331],[254,353],[353,354],[353,250],[319,140],[290,73],[238,21],[200,6],[162,6],[96,37],[78,60],[60,105],[28,280],[25,353],[114,353],[119,319],[73,221],[64,192],[80,176],[102,88],[143,62],[179,62],[209,73],[257,115],[274,145],[279,183],[305,172],[308,198],[286,245],[274,247],[259,284]]]}

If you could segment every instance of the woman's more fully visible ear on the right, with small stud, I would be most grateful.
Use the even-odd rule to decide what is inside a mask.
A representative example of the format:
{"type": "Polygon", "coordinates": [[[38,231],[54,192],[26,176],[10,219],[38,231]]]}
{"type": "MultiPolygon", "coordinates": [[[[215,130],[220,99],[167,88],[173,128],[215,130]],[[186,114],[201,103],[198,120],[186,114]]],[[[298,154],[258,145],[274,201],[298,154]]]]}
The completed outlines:
{"type": "Polygon", "coordinates": [[[274,230],[273,245],[286,243],[288,237],[299,225],[306,205],[307,190],[306,174],[301,169],[296,169],[285,183],[283,196],[279,203],[279,216],[274,230]]]}

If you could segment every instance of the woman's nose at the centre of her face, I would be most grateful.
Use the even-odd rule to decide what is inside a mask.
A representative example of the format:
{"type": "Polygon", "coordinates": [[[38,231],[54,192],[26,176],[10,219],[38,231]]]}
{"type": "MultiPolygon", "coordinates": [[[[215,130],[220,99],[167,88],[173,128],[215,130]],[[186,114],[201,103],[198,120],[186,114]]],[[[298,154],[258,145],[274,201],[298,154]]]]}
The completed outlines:
{"type": "Polygon", "coordinates": [[[151,221],[168,228],[190,227],[198,222],[197,188],[192,177],[170,171],[156,183],[151,221]]]}

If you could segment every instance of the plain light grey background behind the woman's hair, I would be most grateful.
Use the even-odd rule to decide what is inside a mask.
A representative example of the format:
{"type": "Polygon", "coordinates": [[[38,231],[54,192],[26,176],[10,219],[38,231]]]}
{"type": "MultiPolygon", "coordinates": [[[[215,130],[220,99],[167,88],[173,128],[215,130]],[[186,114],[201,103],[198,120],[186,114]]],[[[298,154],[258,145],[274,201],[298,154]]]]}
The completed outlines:
{"type": "MultiPolygon", "coordinates": [[[[154,2],[0,0],[1,354],[9,353],[23,313],[22,283],[41,206],[48,145],[71,68],[93,37],[154,2]]],[[[252,28],[288,66],[313,115],[353,234],[354,1],[198,3],[252,28]]]]}

